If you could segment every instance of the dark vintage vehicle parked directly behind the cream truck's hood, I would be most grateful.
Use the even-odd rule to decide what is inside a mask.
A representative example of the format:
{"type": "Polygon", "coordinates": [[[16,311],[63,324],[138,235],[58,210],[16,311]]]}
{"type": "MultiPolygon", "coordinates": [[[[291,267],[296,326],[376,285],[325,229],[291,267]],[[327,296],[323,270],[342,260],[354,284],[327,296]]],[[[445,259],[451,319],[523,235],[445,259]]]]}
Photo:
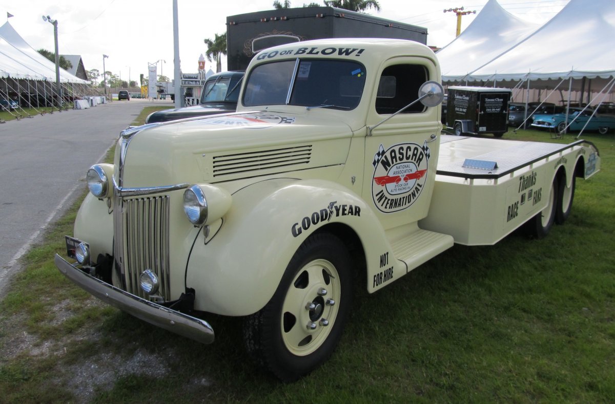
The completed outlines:
{"type": "Polygon", "coordinates": [[[156,111],[149,114],[145,123],[233,112],[237,109],[237,98],[243,77],[244,72],[213,74],[203,85],[199,105],[156,111]]]}

